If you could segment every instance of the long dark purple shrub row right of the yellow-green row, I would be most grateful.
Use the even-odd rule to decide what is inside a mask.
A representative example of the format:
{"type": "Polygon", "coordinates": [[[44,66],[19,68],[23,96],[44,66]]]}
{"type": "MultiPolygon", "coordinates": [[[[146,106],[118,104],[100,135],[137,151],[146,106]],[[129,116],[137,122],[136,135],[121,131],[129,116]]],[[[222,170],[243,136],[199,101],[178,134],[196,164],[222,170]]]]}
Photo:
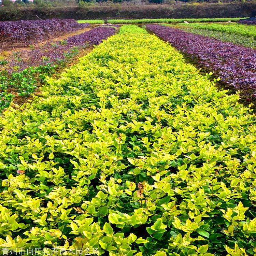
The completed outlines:
{"type": "Polygon", "coordinates": [[[146,27],[178,50],[198,58],[225,83],[253,89],[256,96],[256,50],[161,25],[146,27]]]}

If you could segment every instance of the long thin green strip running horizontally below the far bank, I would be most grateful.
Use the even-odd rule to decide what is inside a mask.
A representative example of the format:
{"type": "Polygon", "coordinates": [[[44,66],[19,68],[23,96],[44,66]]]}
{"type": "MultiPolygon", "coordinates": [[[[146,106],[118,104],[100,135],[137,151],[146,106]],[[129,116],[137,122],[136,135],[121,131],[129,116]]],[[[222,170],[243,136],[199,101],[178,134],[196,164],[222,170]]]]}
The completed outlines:
{"type": "Polygon", "coordinates": [[[108,19],[112,24],[179,23],[179,22],[228,22],[241,18],[198,18],[198,19],[108,19]]]}

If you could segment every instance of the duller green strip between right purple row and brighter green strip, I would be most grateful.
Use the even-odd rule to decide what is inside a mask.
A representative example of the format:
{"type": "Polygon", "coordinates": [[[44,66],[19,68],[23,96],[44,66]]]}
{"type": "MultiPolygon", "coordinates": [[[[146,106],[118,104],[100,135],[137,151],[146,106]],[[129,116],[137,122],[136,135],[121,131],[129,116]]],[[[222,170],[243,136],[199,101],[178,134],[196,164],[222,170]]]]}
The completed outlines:
{"type": "Polygon", "coordinates": [[[205,37],[212,37],[223,42],[232,42],[233,44],[238,44],[244,47],[256,48],[256,40],[253,37],[246,37],[244,35],[208,30],[208,29],[200,29],[184,26],[184,24],[164,24],[164,26],[171,26],[173,28],[179,28],[187,32],[191,32],[194,34],[204,35],[205,37]]]}

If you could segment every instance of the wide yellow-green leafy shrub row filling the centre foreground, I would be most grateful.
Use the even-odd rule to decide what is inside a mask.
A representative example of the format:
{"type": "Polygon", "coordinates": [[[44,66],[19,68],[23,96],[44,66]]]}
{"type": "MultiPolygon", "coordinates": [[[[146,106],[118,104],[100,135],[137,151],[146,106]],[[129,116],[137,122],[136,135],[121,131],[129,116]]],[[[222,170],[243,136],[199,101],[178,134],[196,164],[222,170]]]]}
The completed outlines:
{"type": "Polygon", "coordinates": [[[0,118],[0,248],[254,255],[256,120],[134,25],[0,118]]]}

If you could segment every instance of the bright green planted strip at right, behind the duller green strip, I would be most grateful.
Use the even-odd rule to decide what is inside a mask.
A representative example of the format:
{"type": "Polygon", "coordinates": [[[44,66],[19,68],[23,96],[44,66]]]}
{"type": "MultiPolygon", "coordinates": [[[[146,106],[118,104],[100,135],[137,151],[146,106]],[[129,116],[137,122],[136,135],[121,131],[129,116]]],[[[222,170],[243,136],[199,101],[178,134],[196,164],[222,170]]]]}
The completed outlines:
{"type": "Polygon", "coordinates": [[[212,31],[220,31],[230,34],[239,34],[245,37],[252,37],[256,39],[256,26],[249,26],[244,24],[185,24],[187,27],[193,27],[197,29],[207,29],[212,31]]]}

